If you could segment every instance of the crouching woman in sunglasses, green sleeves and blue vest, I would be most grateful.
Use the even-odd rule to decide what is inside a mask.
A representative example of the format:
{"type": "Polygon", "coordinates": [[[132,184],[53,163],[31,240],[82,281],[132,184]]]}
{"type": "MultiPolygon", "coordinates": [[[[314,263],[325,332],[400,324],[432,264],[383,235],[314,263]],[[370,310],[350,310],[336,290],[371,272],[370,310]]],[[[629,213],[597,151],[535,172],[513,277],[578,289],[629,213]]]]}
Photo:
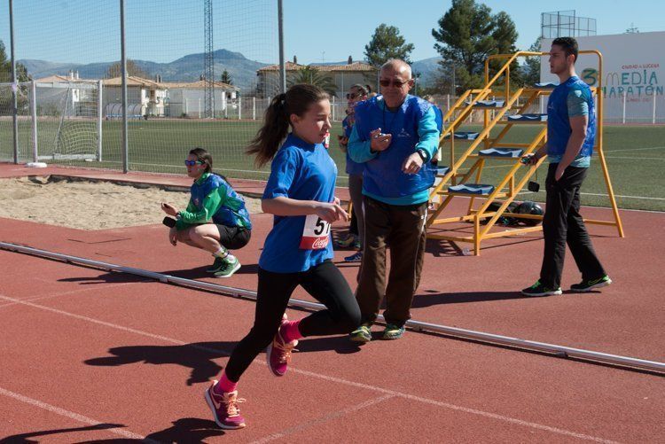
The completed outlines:
{"type": "Polygon", "coordinates": [[[215,277],[231,277],[240,269],[240,261],[231,250],[247,245],[252,222],[242,198],[222,175],[215,175],[213,157],[203,148],[194,148],[184,161],[187,175],[194,179],[187,208],[162,203],[164,213],[176,217],[168,230],[168,241],[206,250],[215,257],[207,269],[215,277]]]}

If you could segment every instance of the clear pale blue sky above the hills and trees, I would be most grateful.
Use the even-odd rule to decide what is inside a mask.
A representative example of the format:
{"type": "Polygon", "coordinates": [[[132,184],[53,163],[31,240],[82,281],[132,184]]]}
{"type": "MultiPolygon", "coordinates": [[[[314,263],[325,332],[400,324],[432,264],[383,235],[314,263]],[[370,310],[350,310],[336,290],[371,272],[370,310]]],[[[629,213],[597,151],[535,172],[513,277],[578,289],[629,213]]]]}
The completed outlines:
{"type": "MultiPolygon", "coordinates": [[[[508,12],[526,49],[540,34],[540,14],[575,9],[597,19],[598,34],[665,30],[665,2],[544,2],[487,0],[492,12],[508,12]]],[[[0,39],[9,50],[8,0],[0,0],[0,39]]],[[[120,58],[118,0],[15,0],[18,58],[90,63],[120,58]]],[[[168,62],[202,52],[203,0],[126,0],[128,57],[168,62]]],[[[214,0],[215,49],[277,61],[277,0],[214,0]]],[[[380,23],[396,26],[415,45],[413,60],[435,57],[432,28],[450,0],[284,0],[286,57],[300,63],[364,57],[364,45],[380,23]]]]}

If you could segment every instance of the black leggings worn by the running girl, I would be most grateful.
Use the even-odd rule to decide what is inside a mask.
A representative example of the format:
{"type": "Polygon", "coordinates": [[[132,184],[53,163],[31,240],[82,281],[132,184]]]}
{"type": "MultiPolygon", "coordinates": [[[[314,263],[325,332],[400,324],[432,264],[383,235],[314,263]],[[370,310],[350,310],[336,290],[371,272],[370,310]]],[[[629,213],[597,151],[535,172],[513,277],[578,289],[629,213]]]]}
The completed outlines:
{"type": "Polygon", "coordinates": [[[360,324],[356,297],[331,261],[299,273],[259,269],[254,326],[233,350],[224,370],[231,381],[238,382],[254,358],[268,347],[281,324],[288,300],[299,284],[326,307],[301,320],[302,336],[346,334],[360,324]]]}

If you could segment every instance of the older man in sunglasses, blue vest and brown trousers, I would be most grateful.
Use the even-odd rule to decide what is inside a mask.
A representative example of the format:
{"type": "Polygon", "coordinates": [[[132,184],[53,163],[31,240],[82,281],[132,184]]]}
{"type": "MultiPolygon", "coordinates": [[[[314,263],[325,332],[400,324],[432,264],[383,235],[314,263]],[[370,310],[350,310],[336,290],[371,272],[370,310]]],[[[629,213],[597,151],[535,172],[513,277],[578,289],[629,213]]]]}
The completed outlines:
{"type": "Polygon", "coordinates": [[[370,327],[384,296],[383,339],[401,338],[411,318],[425,254],[428,189],[434,183],[430,160],[440,135],[433,105],[409,94],[411,66],[388,60],[381,66],[379,84],[380,96],[356,105],[348,141],[351,159],[364,164],[364,254],[356,291],[363,317],[351,333],[356,342],[372,340],[370,327]]]}

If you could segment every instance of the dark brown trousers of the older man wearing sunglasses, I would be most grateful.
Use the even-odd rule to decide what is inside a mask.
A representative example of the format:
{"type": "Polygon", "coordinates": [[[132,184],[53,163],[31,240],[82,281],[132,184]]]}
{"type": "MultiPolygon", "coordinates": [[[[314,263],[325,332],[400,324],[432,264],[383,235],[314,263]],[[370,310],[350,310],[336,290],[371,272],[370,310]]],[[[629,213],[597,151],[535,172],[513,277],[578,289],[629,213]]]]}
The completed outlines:
{"type": "Polygon", "coordinates": [[[363,323],[376,320],[384,296],[387,323],[401,326],[411,319],[411,302],[425,256],[426,217],[426,202],[396,206],[364,197],[364,253],[356,290],[363,323]],[[390,275],[386,285],[387,245],[390,275]]]}

